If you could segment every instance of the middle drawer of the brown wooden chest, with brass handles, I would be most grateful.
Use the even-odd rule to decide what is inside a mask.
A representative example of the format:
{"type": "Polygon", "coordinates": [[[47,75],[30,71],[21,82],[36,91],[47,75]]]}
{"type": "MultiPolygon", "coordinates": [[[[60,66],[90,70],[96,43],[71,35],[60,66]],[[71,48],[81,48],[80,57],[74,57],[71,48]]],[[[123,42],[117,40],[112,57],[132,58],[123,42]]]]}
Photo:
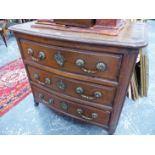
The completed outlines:
{"type": "Polygon", "coordinates": [[[112,106],[116,92],[115,87],[107,87],[64,78],[32,66],[27,66],[27,68],[31,81],[71,97],[112,106]]]}

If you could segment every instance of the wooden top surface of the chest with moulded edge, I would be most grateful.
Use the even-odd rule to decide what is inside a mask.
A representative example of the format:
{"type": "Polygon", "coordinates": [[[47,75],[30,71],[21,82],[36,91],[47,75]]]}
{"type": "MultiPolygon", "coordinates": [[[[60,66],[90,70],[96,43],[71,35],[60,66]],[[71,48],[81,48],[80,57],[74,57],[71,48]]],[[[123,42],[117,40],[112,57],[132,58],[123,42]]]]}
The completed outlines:
{"type": "Polygon", "coordinates": [[[130,23],[130,24],[128,23],[126,24],[125,28],[120,31],[118,36],[68,32],[68,31],[60,31],[45,28],[32,28],[31,25],[34,25],[34,22],[14,25],[11,26],[9,29],[14,32],[34,36],[83,42],[89,44],[99,44],[99,45],[119,46],[129,48],[140,48],[147,45],[145,23],[130,23]]]}

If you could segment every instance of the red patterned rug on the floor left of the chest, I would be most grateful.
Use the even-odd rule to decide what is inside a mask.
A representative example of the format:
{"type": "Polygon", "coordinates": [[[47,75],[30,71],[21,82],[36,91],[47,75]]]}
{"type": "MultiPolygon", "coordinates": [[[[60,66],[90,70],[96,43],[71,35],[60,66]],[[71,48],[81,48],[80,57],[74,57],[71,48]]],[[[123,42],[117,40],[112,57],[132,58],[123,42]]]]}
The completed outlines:
{"type": "Polygon", "coordinates": [[[17,105],[30,92],[31,88],[21,59],[0,68],[0,116],[17,105]]]}

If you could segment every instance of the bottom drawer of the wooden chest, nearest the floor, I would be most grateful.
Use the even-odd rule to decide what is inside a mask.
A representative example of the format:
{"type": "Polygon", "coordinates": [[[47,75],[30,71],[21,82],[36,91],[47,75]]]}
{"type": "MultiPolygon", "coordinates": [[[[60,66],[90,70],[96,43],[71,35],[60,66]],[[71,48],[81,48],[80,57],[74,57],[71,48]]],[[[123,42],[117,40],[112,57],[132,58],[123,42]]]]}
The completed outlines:
{"type": "Polygon", "coordinates": [[[104,127],[108,125],[110,117],[109,111],[99,110],[94,107],[84,106],[66,99],[62,99],[36,86],[32,86],[32,90],[36,102],[45,103],[52,109],[89,123],[104,127]]]}

